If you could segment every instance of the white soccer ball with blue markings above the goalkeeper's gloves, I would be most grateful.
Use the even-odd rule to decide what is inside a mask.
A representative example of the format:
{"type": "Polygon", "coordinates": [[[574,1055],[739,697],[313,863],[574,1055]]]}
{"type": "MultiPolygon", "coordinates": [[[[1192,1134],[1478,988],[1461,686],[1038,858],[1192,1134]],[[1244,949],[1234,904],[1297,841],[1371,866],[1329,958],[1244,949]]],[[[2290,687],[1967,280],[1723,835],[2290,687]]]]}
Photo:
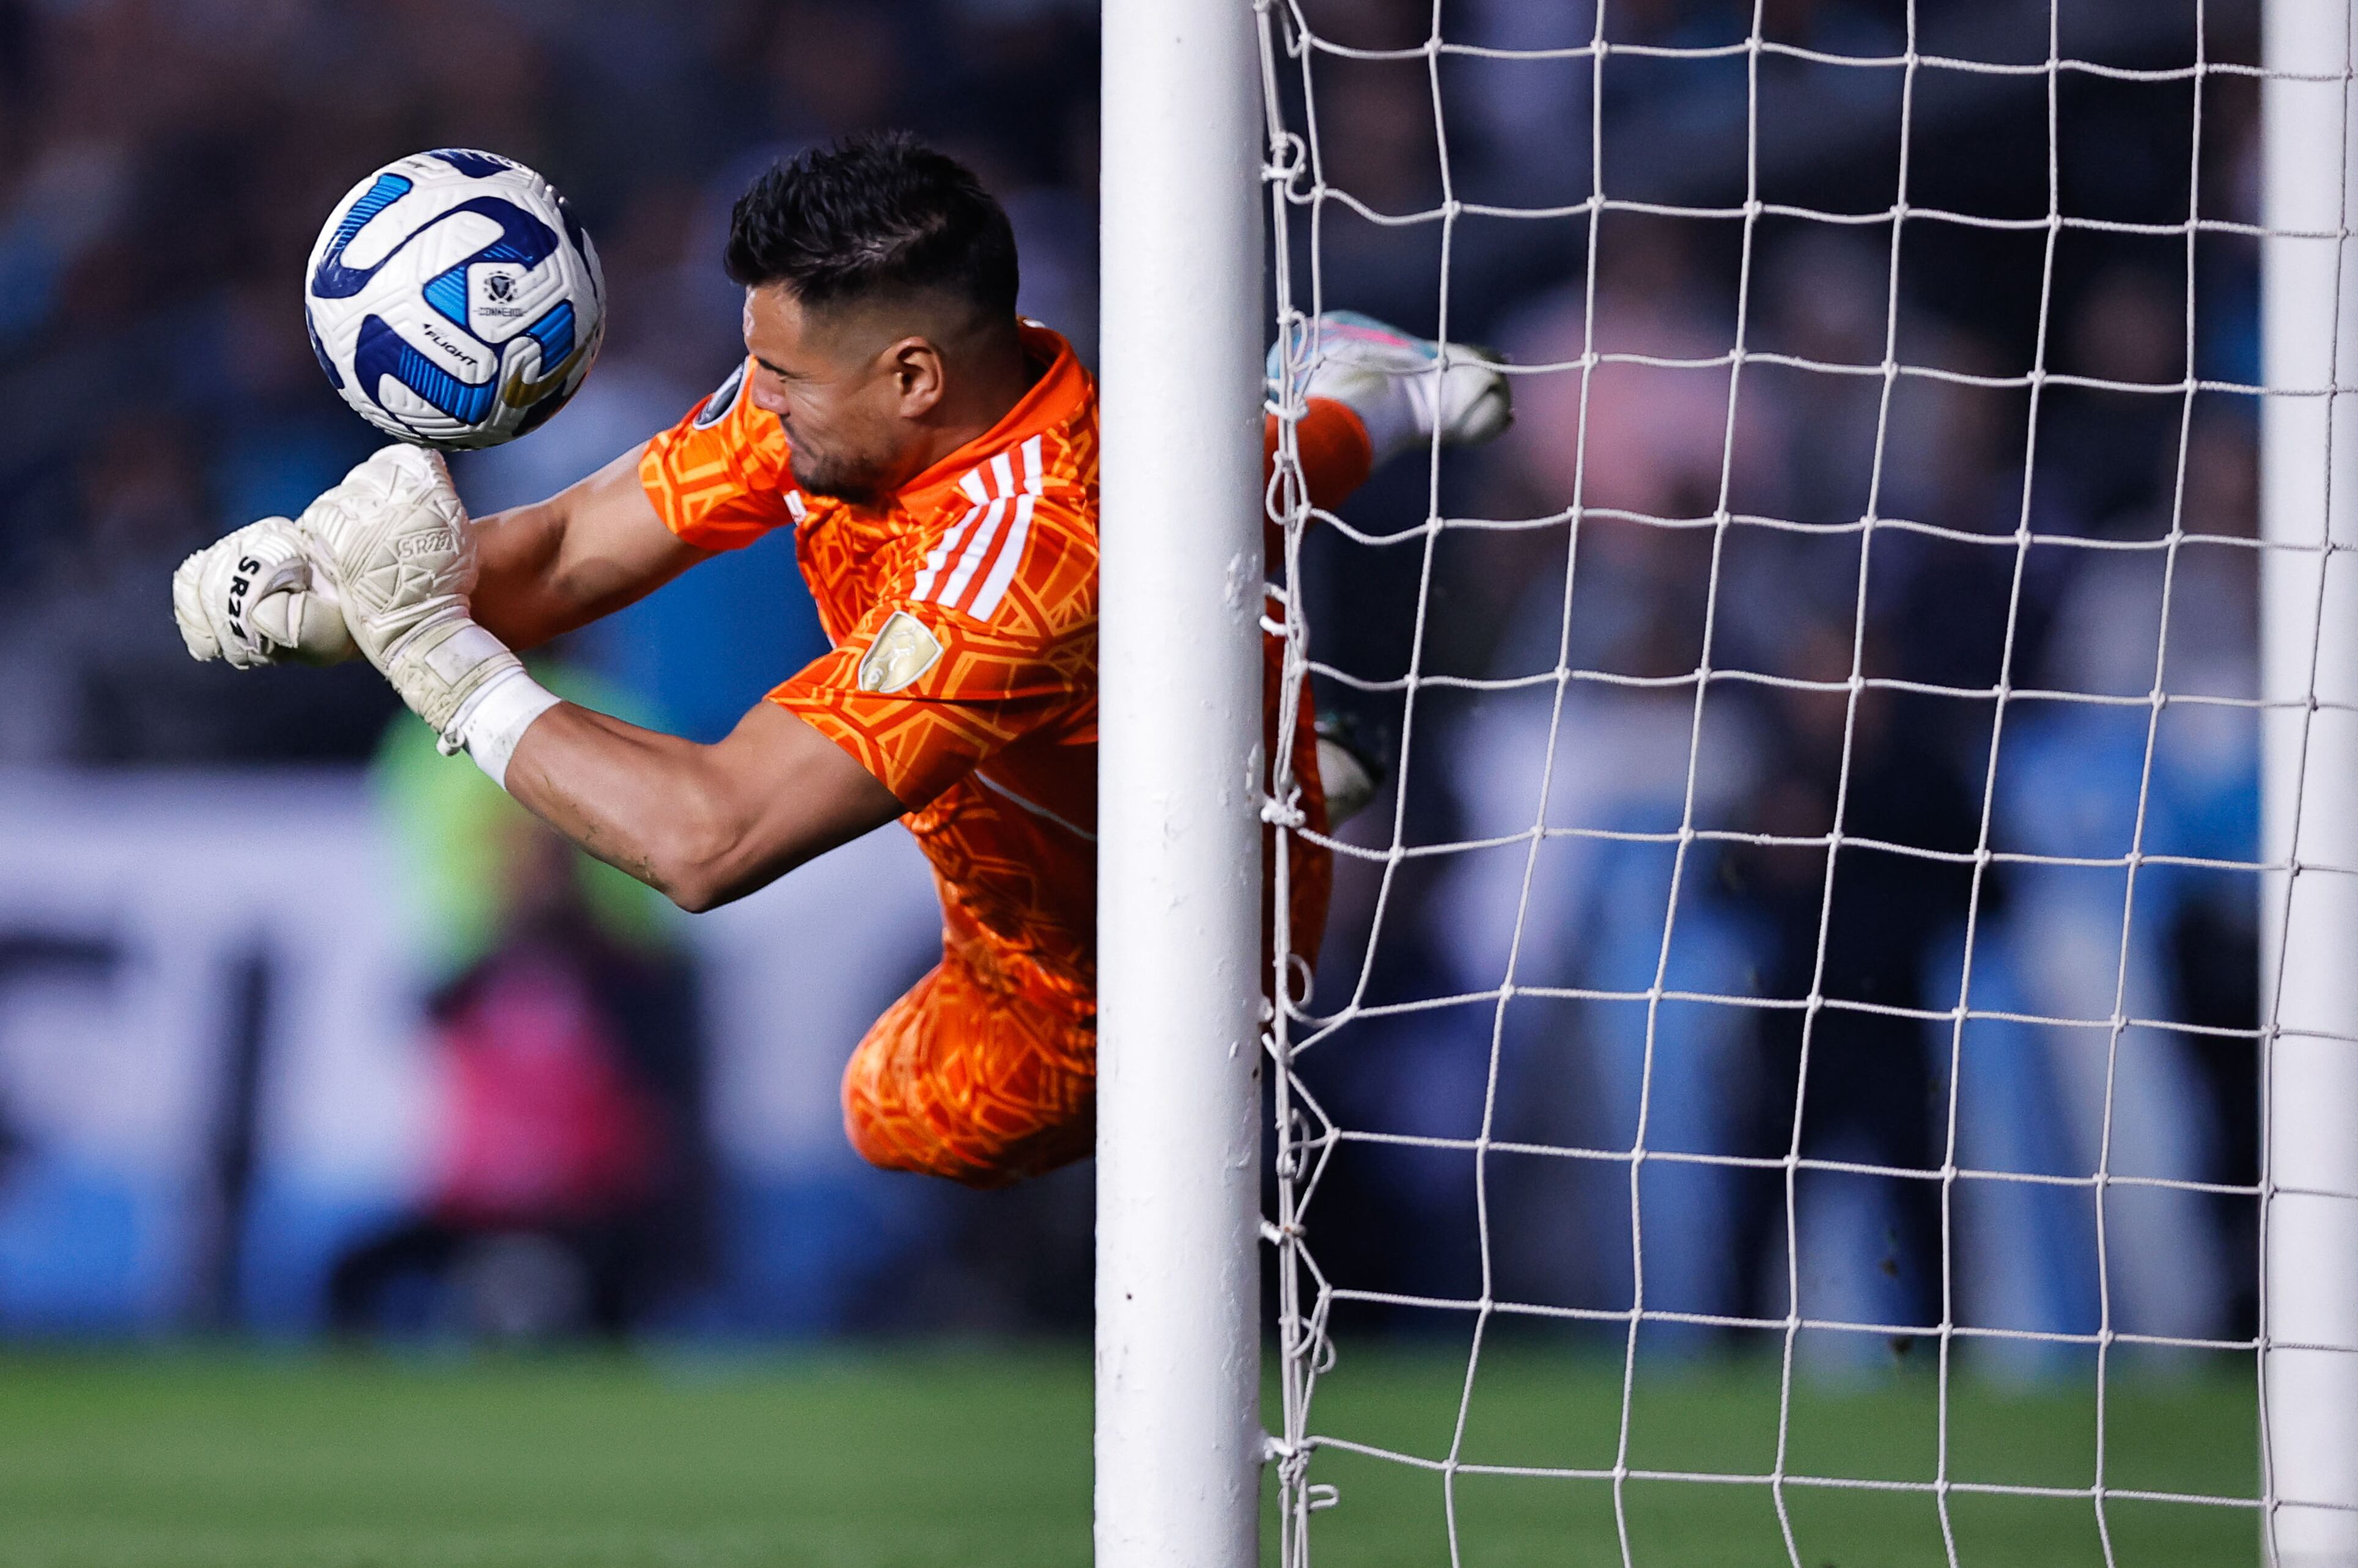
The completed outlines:
{"type": "Polygon", "coordinates": [[[566,406],[606,335],[597,248],[547,179],[415,153],[335,203],[304,274],[328,382],[382,431],[500,446],[566,406]]]}

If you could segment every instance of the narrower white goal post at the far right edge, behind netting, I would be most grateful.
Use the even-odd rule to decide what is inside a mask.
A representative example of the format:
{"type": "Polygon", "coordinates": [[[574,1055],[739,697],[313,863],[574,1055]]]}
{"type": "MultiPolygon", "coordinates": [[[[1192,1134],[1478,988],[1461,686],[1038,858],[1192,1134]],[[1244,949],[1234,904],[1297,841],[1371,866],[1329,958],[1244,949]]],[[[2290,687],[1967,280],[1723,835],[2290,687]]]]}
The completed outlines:
{"type": "MultiPolygon", "coordinates": [[[[2353,0],[2268,0],[2261,342],[2266,384],[2358,382],[2353,0]]],[[[2261,1431],[2268,1561],[2358,1568],[2358,401],[2261,415],[2261,896],[2266,1068],[2261,1431]],[[2325,552],[2327,538],[2334,552],[2325,552]],[[2344,707],[2311,707],[2332,703],[2344,707]],[[2306,868],[2306,870],[2304,870],[2306,868]],[[2330,1195],[2339,1193],[2339,1195],[2330,1195]],[[2344,1349],[2332,1349],[2344,1346],[2344,1349]],[[2320,1507],[2323,1504],[2323,1507],[2320,1507]]]]}

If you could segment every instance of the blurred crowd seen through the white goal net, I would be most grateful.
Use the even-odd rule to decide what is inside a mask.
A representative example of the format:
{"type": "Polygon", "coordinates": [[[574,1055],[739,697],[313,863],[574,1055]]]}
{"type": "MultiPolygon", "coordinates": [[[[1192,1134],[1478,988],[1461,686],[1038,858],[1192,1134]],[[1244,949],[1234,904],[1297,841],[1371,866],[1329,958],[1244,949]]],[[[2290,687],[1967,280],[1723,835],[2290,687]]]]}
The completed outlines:
{"type": "MultiPolygon", "coordinates": [[[[1457,42],[1587,42],[1585,7],[1467,9],[1457,42]]],[[[1608,35],[1728,45],[1750,9],[1611,7],[1608,35]]],[[[2066,57],[2193,59],[2172,7],[2063,12],[2066,57]]],[[[2044,5],[1915,14],[1929,54],[2047,54],[2044,5]]],[[[1764,33],[1896,57],[1898,17],[1768,5],[1764,33]]],[[[2207,57],[2254,59],[2250,26],[2214,9],[2207,57]]],[[[1441,516],[1478,526],[1410,528],[1405,462],[1344,509],[1377,542],[1304,552],[1313,653],[1356,677],[1328,707],[1408,743],[1351,837],[1422,851],[1346,868],[1297,1028],[1306,1132],[1389,1139],[1346,1137],[1309,1217],[1330,1278],[1394,1297],[1342,1320],[1455,1337],[1401,1299],[1502,1299],[1620,1344],[1641,1304],[1674,1316],[1653,1346],[1773,1346],[1792,1306],[1870,1325],[1804,1337],[1858,1363],[1955,1313],[2047,1335],[1976,1342],[2028,1370],[2099,1325],[2252,1332],[2252,1198],[2096,1174],[2259,1170],[2257,877],[2132,894],[2120,863],[2257,858],[2257,398],[2186,391],[2259,382],[2257,243],[2040,219],[2257,222],[2257,92],[2209,78],[2198,118],[2186,80],[2063,73],[2049,149],[2040,75],[1926,68],[1905,141],[1901,75],[1764,57],[1752,137],[1743,57],[1615,57],[1601,104],[1587,59],[1287,85],[1330,191],[1297,297],[1523,368],[1514,431],[1441,460],[1441,516]],[[1710,217],[1438,222],[1599,184],[1710,217]],[[2002,1016],[1959,1028],[1959,997],[2002,1016]]]]}

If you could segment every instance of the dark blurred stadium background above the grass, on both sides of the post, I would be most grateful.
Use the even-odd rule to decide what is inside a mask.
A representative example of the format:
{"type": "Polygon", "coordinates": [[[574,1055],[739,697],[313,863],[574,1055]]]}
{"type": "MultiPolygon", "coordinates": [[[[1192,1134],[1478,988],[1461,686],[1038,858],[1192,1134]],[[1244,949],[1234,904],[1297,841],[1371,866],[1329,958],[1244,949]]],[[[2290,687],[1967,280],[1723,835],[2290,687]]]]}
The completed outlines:
{"type": "MultiPolygon", "coordinates": [[[[1752,61],[1752,5],[1450,0],[1455,45],[1528,52],[1311,64],[1320,224],[1297,210],[1306,297],[1526,365],[1601,351],[1910,368],[1608,363],[1519,380],[1516,429],[1450,455],[1441,509],[1570,526],[1311,540],[1318,658],[1372,681],[1573,681],[1552,825],[1693,821],[1969,851],[2254,858],[2257,726],[2148,707],[2172,564],[2172,693],[2257,691],[2254,408],[2198,377],[2259,380],[2257,248],[2184,226],[2257,222],[2257,85],[2186,71],[2257,59],[2247,0],[2063,0],[2056,47],[2127,75],[2037,66],[2049,7],[1919,0],[1917,50],[2021,66],[1898,64],[1898,0],[1768,0],[1761,35],[1823,54],[1752,61]],[[2153,75],[2160,71],[2162,75],[2153,75]],[[2139,75],[2143,73],[2143,75],[2139,75]],[[1438,111],[1436,111],[1438,97],[1438,111]],[[2049,123],[2054,137],[2049,139],[2049,123]],[[2198,134],[2200,123],[2200,134],[2198,134]],[[1443,153],[1445,149],[1445,153],[1443,153]],[[1622,203],[1594,224],[1596,189],[1622,203]],[[1750,222],[1747,191],[1768,203],[1750,222]],[[1344,196],[1349,200],[1344,200],[1344,196]],[[1445,198],[1462,215],[1431,215],[1445,198]],[[1905,222],[1893,252],[1893,203],[1905,222]],[[2049,203],[2066,219],[2049,229],[2049,203]],[[1511,207],[1514,212],[1500,212],[1511,207]],[[1710,215],[1695,215],[1710,210],[1710,215]],[[2004,226],[1952,215],[2007,219],[2004,226]],[[1832,222],[1849,219],[1849,222],[1832,222]],[[2143,226],[2143,229],[2139,229],[2143,226]],[[1445,248],[1445,285],[1443,285],[1445,248]],[[1893,259],[1896,255],[1896,259],[1893,259]],[[2082,375],[2155,391],[2044,387],[2082,375]],[[1978,377],[1978,380],[1971,380],[1978,377]],[[1582,439],[1585,434],[1585,439],[1582,439]],[[2030,469],[2026,486],[2026,467],[2030,469]],[[1735,523],[1712,528],[1714,512],[1735,523]],[[1790,523],[1903,519],[1926,528],[1790,523]],[[1752,521],[1743,521],[1752,519],[1752,521]],[[1665,526],[1679,523],[1679,526],[1665,526]],[[2172,531],[2217,542],[2162,549],[2172,531]],[[2030,542],[2023,542],[2023,540],[2030,542]],[[1863,573],[1865,559],[1865,573],[1863,573]],[[1865,580],[1865,587],[1860,582],[1865,580]],[[1714,592],[1717,585],[1717,592],[1714,592]],[[1431,594],[1412,646],[1420,587],[1431,594]],[[1570,601],[1566,597],[1570,594],[1570,601]],[[1870,691],[1842,681],[1853,653],[1870,691]],[[1698,705],[1693,684],[1714,679],[1698,705]],[[1993,764],[1995,752],[1995,764],[1993,764]]],[[[1415,50],[1431,7],[1320,2],[1356,50],[1415,50]]],[[[1309,125],[1287,68],[1290,123],[1309,125]]],[[[335,196],[427,146],[545,172],[611,288],[582,394],[531,441],[457,462],[476,509],[540,498],[677,420],[736,363],[717,266],[764,160],[908,125],[1007,203],[1023,309],[1085,356],[1096,316],[1094,7],[1061,0],[0,0],[0,1332],[252,1327],[417,1335],[1078,1330],[1087,1172],[967,1195],[868,1172],[835,1075],[931,962],[936,915],[901,835],[837,851],[726,913],[674,920],[552,846],[365,667],[193,665],[170,568],[226,528],[297,512],[375,446],[311,361],[299,269],[335,196]],[[274,825],[257,849],[252,823],[274,825]]],[[[1389,535],[1427,512],[1396,465],[1351,505],[1389,535]]],[[[783,540],[691,573],[554,651],[552,679],[679,733],[722,733],[821,648],[783,540]]],[[[1405,762],[1410,844],[1528,830],[1554,681],[1427,689],[1405,762]]],[[[1398,693],[1323,700],[1398,736],[1398,693]]],[[[1391,837],[1396,792],[1351,828],[1391,837]]],[[[1530,898],[1521,846],[1415,861],[1375,920],[1346,868],[1311,1012],[1519,983],[1882,1002],[1799,1012],[1519,1000],[1353,1019],[1304,1059],[1351,1127],[1471,1137],[1493,1045],[1495,1137],[1868,1167],[2110,1170],[2250,1181],[2254,1056],[2233,1033],[1976,1019],[1955,1004],[1974,915],[1976,1009],[2252,1028],[2252,879],[1950,863],[1698,842],[1554,839],[1530,898]],[[1823,922],[1827,889],[1832,915],[1823,922]],[[2125,936],[2127,924],[2127,936],[2125,936]],[[1820,955],[1823,946],[1823,955],[1820,955]],[[2122,979],[2125,976],[2125,979],[2122,979]],[[1651,1066],[1648,1066],[1651,1061],[1651,1066]],[[1806,1080],[1806,1115],[1794,1115],[1806,1080]]],[[[1651,1167],[1655,1304],[1783,1316],[1780,1177],[1651,1167]]],[[[1936,1309],[1934,1188],[1802,1184],[1813,1311],[1936,1309]]],[[[1346,1144],[1318,1252],[1370,1292],[1627,1304],[1627,1165],[1493,1155],[1488,1214],[1462,1151],[1346,1144]],[[1488,1226],[1488,1231],[1483,1228],[1488,1226]]],[[[2250,1332],[2247,1200],[2115,1193],[2115,1323],[2250,1332]]],[[[1959,1184],[1967,1313],[2096,1320],[2084,1188],[1959,1184]]],[[[1363,1309],[1391,1330],[1408,1309],[1363,1309]]],[[[1740,1332],[1714,1335],[1740,1339],[1740,1332]]],[[[1665,1346],[1695,1342],[1665,1337],[1665,1346]]],[[[1853,1353],[1842,1344],[1827,1356],[1853,1353]]],[[[1889,1353],[1877,1339],[1872,1353],[1889,1353]]],[[[2026,1368],[2042,1351],[2021,1351],[2026,1368]]]]}

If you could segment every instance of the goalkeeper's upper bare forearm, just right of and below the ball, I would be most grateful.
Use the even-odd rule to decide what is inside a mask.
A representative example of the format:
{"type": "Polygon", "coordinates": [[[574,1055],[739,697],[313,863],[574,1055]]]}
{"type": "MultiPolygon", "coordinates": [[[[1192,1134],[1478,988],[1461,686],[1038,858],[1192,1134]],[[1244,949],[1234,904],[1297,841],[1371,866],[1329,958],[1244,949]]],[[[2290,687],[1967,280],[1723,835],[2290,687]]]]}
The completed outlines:
{"type": "Polygon", "coordinates": [[[476,622],[509,648],[637,604],[712,552],[679,542],[639,483],[644,443],[590,479],[528,507],[474,521],[476,622]]]}

